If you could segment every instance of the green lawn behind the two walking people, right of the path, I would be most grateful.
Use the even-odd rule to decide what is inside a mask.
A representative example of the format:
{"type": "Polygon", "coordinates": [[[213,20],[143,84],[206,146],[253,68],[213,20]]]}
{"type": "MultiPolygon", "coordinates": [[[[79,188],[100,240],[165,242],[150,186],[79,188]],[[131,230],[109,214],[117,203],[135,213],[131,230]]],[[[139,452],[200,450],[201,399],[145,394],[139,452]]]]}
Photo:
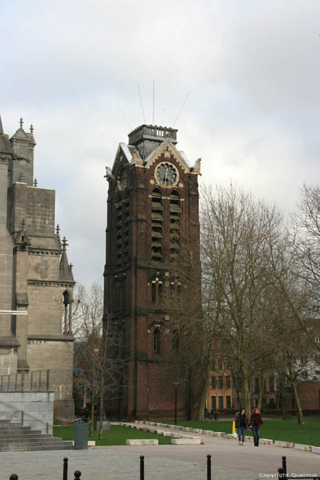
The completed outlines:
{"type": "MultiPolygon", "coordinates": [[[[173,422],[168,423],[172,424],[173,422]]],[[[193,427],[194,429],[232,433],[232,420],[218,420],[217,422],[178,422],[178,425],[193,427]]],[[[251,430],[247,430],[246,435],[252,436],[251,430]]],[[[284,442],[294,442],[297,444],[320,446],[319,420],[315,422],[306,421],[304,426],[298,425],[296,418],[294,420],[264,420],[264,424],[260,427],[260,437],[271,440],[283,440],[284,442]]]]}

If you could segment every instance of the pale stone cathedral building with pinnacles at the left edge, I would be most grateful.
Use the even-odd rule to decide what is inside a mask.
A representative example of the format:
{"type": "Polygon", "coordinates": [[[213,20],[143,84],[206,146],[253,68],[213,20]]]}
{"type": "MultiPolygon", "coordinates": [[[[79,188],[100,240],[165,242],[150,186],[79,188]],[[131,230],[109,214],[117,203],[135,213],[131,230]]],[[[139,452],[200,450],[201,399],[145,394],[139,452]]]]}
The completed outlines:
{"type": "Polygon", "coordinates": [[[33,128],[20,125],[9,139],[0,119],[0,383],[49,370],[55,413],[70,418],[75,281],[55,227],[55,191],[34,180],[33,128]]]}

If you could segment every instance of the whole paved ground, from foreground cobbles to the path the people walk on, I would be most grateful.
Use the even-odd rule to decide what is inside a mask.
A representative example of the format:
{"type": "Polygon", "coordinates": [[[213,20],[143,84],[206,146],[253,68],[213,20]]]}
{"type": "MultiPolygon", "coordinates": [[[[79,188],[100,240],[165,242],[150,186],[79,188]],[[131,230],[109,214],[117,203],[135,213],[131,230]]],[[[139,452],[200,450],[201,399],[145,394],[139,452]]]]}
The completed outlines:
{"type": "MultiPolygon", "coordinates": [[[[162,429],[162,428],[161,428],[162,429]]],[[[163,430],[163,429],[162,429],[163,430]]],[[[173,431],[172,429],[170,429],[173,431]]],[[[187,432],[185,432],[188,434],[187,432]]],[[[212,455],[212,480],[258,480],[271,477],[286,455],[288,472],[320,474],[320,458],[314,453],[236,440],[201,436],[202,445],[112,446],[88,451],[38,451],[0,453],[0,479],[12,473],[19,480],[62,479],[63,458],[69,458],[69,480],[82,472],[81,480],[138,480],[140,455],[145,455],[145,480],[206,480],[206,455],[212,455]]],[[[130,437],[130,435],[128,435],[130,437]]]]}

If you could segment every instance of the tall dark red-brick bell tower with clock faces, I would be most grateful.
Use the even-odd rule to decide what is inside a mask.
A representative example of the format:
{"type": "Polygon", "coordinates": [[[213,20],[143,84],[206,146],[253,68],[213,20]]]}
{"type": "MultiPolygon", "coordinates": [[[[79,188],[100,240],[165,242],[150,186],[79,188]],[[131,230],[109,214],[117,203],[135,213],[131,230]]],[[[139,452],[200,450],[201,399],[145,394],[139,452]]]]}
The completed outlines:
{"type": "Polygon", "coordinates": [[[127,388],[110,413],[119,418],[191,416],[190,392],[170,363],[179,341],[162,299],[175,285],[172,262],[199,239],[198,175],[176,149],[177,130],[141,125],[106,167],[108,226],[104,307],[122,338],[127,388]],[[178,378],[177,378],[178,377],[178,378]]]}

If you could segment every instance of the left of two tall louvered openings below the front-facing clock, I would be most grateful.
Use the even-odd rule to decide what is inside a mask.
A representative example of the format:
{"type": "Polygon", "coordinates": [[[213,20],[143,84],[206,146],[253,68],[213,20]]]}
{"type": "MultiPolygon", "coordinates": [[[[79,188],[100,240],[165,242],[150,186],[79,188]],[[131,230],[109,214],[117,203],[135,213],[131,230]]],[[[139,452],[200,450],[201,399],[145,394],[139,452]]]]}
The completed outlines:
{"type": "Polygon", "coordinates": [[[163,262],[163,204],[160,189],[151,196],[151,261],[163,262]]]}

